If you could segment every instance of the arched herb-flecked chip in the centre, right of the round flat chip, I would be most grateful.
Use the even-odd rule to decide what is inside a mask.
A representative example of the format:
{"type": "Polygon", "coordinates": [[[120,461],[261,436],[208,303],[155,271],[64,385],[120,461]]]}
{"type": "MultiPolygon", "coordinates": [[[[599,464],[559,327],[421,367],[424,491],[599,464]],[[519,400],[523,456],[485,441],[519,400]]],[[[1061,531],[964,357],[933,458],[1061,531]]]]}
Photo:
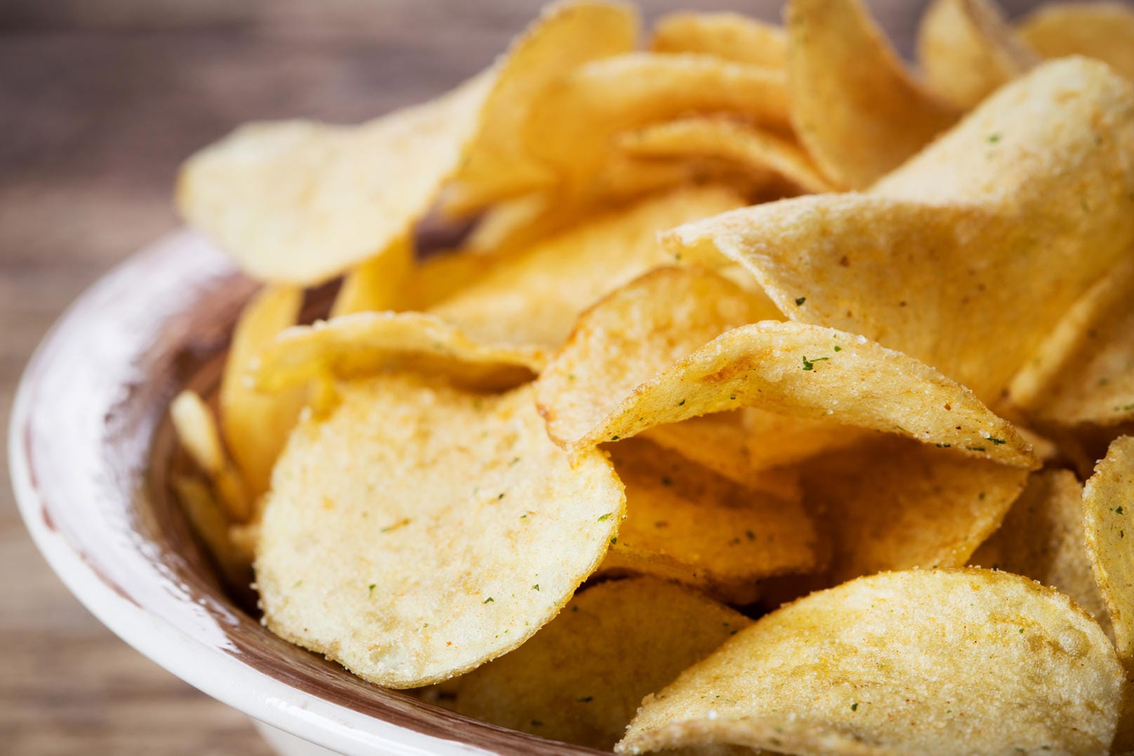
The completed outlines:
{"type": "MultiPolygon", "coordinates": [[[[557,363],[544,375],[560,371],[557,363]]],[[[1038,465],[1012,424],[968,389],[863,337],[802,323],[733,329],[638,385],[612,411],[606,397],[570,387],[551,391],[543,381],[541,375],[536,383],[540,413],[549,434],[569,450],[663,423],[756,407],[955,447],[1015,467],[1038,465]]],[[[579,383],[592,385],[586,379],[579,383]]]]}

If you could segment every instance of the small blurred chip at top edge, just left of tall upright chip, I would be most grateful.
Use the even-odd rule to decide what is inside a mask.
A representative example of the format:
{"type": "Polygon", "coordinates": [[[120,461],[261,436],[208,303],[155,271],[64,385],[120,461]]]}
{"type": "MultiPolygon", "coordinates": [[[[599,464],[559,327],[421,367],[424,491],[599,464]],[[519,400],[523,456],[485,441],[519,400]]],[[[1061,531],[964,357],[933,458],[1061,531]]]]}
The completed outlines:
{"type": "Polygon", "coordinates": [[[769,68],[787,67],[784,29],[741,14],[672,12],[658,19],[653,52],[695,52],[769,68]]]}

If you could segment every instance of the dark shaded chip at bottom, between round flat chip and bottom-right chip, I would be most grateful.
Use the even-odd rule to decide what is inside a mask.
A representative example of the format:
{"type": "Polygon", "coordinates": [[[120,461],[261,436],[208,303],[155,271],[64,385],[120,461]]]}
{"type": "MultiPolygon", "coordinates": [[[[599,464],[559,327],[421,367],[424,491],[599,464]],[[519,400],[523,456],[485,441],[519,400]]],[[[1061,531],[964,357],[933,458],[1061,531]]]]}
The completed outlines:
{"type": "Polygon", "coordinates": [[[750,625],[671,583],[600,583],[522,648],[455,680],[455,698],[446,705],[513,730],[610,750],[643,696],[750,625]]]}

